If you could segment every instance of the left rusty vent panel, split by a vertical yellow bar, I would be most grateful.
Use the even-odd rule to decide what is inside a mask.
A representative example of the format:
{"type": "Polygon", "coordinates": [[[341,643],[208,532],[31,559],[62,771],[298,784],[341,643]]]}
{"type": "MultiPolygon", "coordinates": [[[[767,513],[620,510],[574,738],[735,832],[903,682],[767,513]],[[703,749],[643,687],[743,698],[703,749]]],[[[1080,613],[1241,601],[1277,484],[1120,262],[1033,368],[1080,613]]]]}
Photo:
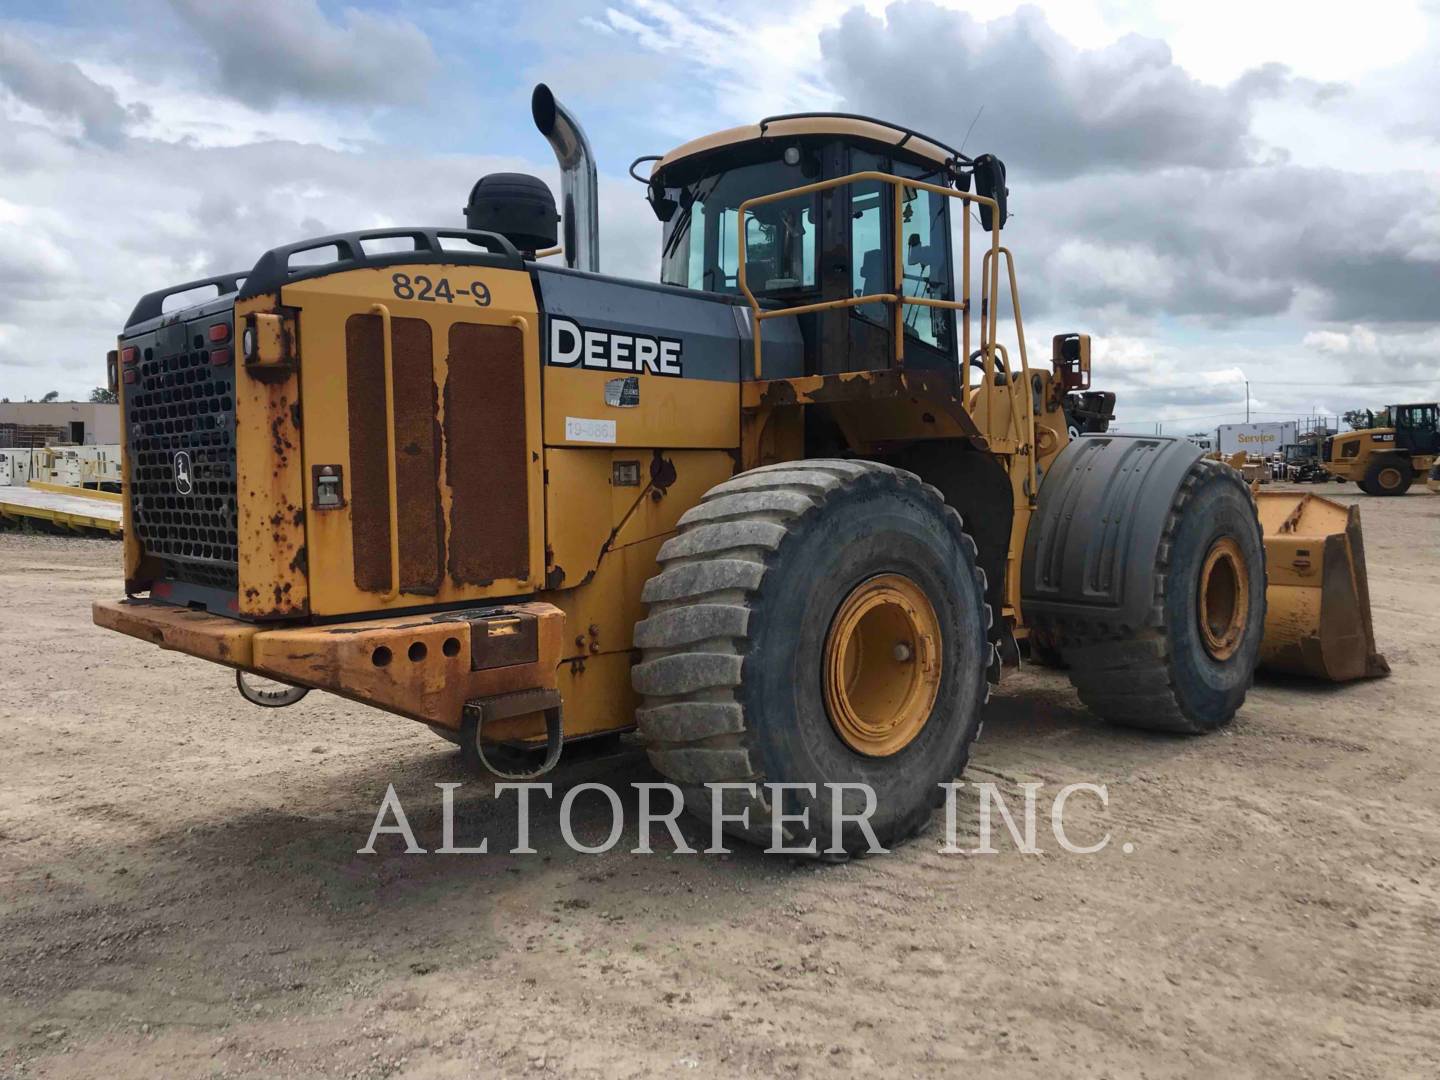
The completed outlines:
{"type": "MultiPolygon", "coordinates": [[[[431,327],[419,318],[396,318],[392,334],[400,590],[435,595],[444,563],[445,521],[431,327]]],[[[351,315],[346,321],[346,374],[354,579],[360,589],[384,592],[390,586],[390,507],[379,315],[351,315]]]]}

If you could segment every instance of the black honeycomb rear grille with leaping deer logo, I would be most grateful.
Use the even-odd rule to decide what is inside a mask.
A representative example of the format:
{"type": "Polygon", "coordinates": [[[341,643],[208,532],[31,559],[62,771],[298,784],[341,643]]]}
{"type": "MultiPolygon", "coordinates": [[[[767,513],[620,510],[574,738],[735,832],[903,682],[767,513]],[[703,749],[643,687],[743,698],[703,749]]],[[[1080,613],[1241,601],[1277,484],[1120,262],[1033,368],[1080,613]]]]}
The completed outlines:
{"type": "Polygon", "coordinates": [[[125,387],[130,498],[135,536],[166,577],[236,592],[235,364],[210,363],[216,321],[137,341],[140,380],[125,387]]]}

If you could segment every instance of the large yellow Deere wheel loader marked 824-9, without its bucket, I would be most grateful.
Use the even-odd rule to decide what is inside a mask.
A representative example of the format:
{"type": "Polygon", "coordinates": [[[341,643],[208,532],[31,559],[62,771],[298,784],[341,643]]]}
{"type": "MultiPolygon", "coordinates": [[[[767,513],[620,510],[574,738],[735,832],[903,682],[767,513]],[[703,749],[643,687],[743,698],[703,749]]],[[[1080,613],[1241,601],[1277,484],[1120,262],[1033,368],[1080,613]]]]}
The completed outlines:
{"type": "Polygon", "coordinates": [[[490,176],[467,229],[323,236],[140,301],[127,599],[99,625],[503,775],[635,727],[696,814],[740,785],[732,828],[783,809],[821,851],[864,847],[825,785],[871,786],[883,844],[926,822],[1032,631],[1102,717],[1231,720],[1254,503],[1185,439],[1068,436],[1089,338],[1030,364],[999,160],[838,114],[707,135],[639,177],[649,284],[599,272],[589,145],[544,86],[533,108],[563,215],[490,176]]]}

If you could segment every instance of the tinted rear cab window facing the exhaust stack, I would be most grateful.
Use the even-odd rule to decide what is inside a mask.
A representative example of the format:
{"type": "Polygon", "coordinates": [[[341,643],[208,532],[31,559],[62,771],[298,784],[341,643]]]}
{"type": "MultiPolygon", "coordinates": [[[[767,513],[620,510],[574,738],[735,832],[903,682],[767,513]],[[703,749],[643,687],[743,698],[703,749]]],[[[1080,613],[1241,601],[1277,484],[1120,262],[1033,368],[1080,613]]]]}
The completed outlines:
{"type": "MultiPolygon", "coordinates": [[[[739,292],[740,203],[806,183],[780,161],[707,176],[680,189],[680,209],[665,225],[660,279],[708,292],[739,292]]],[[[786,297],[815,288],[815,196],[756,206],[744,219],[746,282],[756,295],[786,297]]]]}

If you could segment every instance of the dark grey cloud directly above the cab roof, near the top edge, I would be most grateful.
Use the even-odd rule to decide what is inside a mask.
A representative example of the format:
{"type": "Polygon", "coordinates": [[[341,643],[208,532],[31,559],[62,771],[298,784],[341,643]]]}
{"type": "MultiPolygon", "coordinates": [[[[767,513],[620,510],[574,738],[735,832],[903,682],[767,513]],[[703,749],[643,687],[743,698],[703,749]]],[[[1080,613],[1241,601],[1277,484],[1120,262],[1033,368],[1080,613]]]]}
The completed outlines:
{"type": "Polygon", "coordinates": [[[995,150],[1032,176],[1246,164],[1259,151],[1251,104],[1287,84],[1269,65],[1211,86],[1164,42],[1138,35],[1080,49],[1034,7],[981,22],[906,0],[884,19],[852,9],[819,40],[847,108],[883,102],[884,115],[959,143],[984,107],[969,148],[995,150]]]}

